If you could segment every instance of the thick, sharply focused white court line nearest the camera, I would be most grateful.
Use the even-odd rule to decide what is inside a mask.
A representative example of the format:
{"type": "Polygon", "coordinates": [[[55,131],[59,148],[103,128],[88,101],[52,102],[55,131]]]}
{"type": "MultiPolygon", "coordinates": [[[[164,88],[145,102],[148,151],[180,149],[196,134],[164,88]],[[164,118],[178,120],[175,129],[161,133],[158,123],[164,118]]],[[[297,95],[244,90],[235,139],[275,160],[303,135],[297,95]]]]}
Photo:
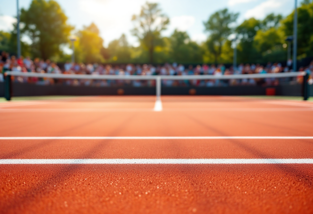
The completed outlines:
{"type": "Polygon", "coordinates": [[[0,164],[313,164],[313,159],[0,159],[0,164]]]}

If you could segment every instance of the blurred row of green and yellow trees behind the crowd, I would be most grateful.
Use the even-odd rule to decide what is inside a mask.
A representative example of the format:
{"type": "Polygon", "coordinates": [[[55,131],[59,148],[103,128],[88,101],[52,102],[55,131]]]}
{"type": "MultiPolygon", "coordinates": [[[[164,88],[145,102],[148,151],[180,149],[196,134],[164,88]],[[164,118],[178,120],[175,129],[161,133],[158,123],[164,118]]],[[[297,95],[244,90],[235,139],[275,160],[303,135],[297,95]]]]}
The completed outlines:
{"type": "MultiPolygon", "coordinates": [[[[233,24],[239,14],[228,9],[213,13],[204,22],[208,39],[202,44],[191,41],[187,32],[175,30],[170,37],[163,37],[169,18],[157,3],[146,2],[141,12],[132,17],[132,35],[138,38],[139,47],[127,42],[124,34],[113,40],[107,48],[94,23],[76,31],[75,61],[84,63],[165,63],[183,64],[232,63],[233,48],[230,35],[236,35],[238,63],[266,63],[285,61],[286,36],[293,34],[293,17],[267,15],[263,20],[249,18],[236,28],[233,24]]],[[[313,56],[313,1],[303,0],[298,8],[298,59],[313,56]]],[[[0,31],[0,50],[16,54],[17,26],[10,33],[0,31]]],[[[69,44],[74,29],[67,24],[67,17],[54,0],[33,0],[29,8],[21,10],[21,33],[32,41],[21,42],[22,55],[65,61],[70,55],[62,52],[69,44]]]]}

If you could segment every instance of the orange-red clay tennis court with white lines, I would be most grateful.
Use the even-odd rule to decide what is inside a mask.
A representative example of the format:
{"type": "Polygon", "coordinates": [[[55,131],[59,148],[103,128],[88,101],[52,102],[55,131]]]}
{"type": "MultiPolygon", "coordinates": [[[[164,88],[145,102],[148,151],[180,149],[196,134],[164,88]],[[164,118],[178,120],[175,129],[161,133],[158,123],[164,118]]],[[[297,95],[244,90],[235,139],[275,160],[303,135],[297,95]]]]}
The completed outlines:
{"type": "Polygon", "coordinates": [[[313,103],[0,103],[0,213],[312,213],[313,103]]]}

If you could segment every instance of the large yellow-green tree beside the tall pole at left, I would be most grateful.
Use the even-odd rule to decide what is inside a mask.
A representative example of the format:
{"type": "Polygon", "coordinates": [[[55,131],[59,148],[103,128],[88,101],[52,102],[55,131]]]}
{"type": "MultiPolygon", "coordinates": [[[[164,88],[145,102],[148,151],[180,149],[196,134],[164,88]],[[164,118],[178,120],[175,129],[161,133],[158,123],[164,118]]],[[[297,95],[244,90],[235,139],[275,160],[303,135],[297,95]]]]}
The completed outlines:
{"type": "Polygon", "coordinates": [[[28,10],[21,10],[21,33],[31,41],[35,57],[49,59],[58,55],[60,45],[68,42],[73,29],[56,1],[33,0],[28,10]]]}

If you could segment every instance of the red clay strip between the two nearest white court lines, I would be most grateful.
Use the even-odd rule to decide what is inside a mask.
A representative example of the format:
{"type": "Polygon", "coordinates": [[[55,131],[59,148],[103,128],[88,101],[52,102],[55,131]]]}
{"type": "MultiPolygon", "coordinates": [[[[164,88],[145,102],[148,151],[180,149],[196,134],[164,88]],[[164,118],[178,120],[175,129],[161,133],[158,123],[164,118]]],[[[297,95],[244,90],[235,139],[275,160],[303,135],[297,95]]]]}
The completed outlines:
{"type": "Polygon", "coordinates": [[[313,158],[313,140],[290,139],[0,140],[0,148],[0,159],[313,158]]]}

